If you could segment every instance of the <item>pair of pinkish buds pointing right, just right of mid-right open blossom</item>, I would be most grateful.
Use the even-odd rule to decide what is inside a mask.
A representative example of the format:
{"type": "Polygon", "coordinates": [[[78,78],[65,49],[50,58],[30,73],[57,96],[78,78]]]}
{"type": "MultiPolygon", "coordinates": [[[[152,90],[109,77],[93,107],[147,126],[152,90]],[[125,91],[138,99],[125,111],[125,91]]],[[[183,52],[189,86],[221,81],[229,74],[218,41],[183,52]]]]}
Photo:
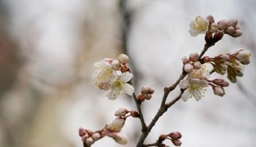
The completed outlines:
{"type": "Polygon", "coordinates": [[[209,85],[212,86],[212,90],[214,90],[215,95],[219,95],[223,97],[225,95],[225,90],[223,87],[229,86],[229,82],[227,82],[224,79],[214,79],[214,80],[208,80],[209,85]]]}

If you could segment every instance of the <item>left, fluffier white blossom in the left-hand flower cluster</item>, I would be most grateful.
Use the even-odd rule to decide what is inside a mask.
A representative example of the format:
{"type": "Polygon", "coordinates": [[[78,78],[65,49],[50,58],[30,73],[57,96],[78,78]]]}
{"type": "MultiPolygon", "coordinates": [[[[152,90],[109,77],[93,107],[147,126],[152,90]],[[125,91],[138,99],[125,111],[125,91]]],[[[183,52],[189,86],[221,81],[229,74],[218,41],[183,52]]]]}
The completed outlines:
{"type": "Polygon", "coordinates": [[[111,64],[104,60],[94,63],[94,84],[99,89],[109,90],[109,81],[114,78],[113,72],[115,71],[113,71],[111,64]]]}

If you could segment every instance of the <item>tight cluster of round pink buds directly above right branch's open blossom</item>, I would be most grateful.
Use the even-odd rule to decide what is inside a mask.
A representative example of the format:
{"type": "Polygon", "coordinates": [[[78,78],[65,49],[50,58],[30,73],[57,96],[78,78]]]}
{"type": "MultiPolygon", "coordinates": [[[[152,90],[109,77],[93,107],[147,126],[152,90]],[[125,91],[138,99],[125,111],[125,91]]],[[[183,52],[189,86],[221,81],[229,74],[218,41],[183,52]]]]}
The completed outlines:
{"type": "Polygon", "coordinates": [[[190,73],[193,71],[193,69],[200,69],[201,63],[198,61],[199,54],[198,53],[191,53],[189,55],[189,58],[186,56],[182,58],[183,62],[183,70],[187,73],[190,73]]]}

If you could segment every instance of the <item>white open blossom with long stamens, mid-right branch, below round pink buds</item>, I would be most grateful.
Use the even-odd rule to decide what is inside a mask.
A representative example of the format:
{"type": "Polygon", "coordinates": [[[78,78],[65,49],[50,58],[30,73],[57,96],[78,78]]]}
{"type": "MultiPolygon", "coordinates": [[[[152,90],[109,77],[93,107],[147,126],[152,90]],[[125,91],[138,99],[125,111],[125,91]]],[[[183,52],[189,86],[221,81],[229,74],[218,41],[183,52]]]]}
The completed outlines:
{"type": "Polygon", "coordinates": [[[199,101],[203,97],[205,87],[209,86],[206,80],[209,76],[209,71],[202,66],[200,69],[189,73],[186,80],[180,80],[179,86],[181,89],[186,89],[182,95],[182,100],[187,101],[189,98],[194,97],[199,101]]]}

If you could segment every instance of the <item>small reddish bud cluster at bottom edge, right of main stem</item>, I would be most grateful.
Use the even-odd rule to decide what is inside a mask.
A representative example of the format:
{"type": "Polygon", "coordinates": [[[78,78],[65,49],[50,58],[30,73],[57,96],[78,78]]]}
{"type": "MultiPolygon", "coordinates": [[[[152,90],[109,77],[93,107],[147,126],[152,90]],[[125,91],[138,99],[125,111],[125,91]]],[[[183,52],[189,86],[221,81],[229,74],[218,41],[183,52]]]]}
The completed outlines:
{"type": "Polygon", "coordinates": [[[180,132],[172,132],[167,135],[160,135],[158,138],[158,142],[162,144],[162,142],[165,141],[165,139],[169,139],[170,141],[172,141],[173,145],[180,146],[182,145],[182,141],[180,141],[180,138],[182,138],[182,134],[180,132]]]}

